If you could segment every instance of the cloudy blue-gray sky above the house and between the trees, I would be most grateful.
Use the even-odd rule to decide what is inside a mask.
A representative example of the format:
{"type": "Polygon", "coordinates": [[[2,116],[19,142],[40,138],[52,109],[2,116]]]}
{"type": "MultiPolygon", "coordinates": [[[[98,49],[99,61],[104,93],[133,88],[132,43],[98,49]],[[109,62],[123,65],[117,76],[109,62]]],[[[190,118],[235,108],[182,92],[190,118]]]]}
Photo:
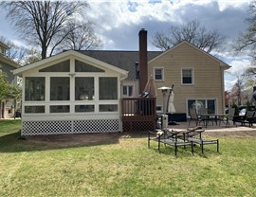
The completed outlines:
{"type": "MultiPolygon", "coordinates": [[[[217,58],[231,65],[225,74],[225,89],[230,90],[237,74],[250,65],[246,54],[234,55],[229,47],[243,32],[247,24],[248,0],[87,0],[88,18],[96,25],[105,50],[138,50],[138,31],[148,31],[148,50],[158,50],[152,45],[156,32],[166,31],[197,20],[208,30],[218,30],[227,37],[227,48],[217,58]]],[[[26,45],[0,9],[0,36],[16,45],[26,45]]]]}

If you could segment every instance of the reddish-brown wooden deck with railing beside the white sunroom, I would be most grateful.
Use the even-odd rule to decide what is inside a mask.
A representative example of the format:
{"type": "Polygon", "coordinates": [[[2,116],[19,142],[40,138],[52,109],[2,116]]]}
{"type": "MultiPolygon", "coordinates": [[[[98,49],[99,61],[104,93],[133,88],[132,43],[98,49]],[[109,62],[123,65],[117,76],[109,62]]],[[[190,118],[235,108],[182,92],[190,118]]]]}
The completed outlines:
{"type": "Polygon", "coordinates": [[[155,130],[155,119],[155,98],[121,99],[123,131],[153,131],[155,130]]]}

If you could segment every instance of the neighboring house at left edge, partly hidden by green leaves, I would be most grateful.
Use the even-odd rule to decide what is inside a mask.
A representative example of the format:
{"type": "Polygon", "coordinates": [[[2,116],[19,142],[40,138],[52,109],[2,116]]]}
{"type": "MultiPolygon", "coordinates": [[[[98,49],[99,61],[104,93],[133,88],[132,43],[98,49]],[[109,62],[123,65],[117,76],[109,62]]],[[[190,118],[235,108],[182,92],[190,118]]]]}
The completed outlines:
{"type": "MultiPolygon", "coordinates": [[[[8,45],[0,42],[0,72],[5,72],[8,76],[7,81],[12,84],[17,84],[17,77],[14,77],[12,70],[18,68],[20,65],[14,63],[7,57],[7,50],[9,49],[8,45]]],[[[14,116],[14,99],[5,99],[1,100],[0,103],[0,118],[9,118],[14,116]]]]}

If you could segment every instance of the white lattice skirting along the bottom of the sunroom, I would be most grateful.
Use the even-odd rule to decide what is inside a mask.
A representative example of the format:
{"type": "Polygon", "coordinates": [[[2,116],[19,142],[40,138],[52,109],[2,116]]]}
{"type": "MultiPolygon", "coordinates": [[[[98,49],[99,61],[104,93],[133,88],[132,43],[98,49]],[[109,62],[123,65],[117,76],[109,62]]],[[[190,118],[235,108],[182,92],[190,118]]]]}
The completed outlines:
{"type": "Polygon", "coordinates": [[[121,132],[119,119],[23,121],[22,135],[121,132]]]}

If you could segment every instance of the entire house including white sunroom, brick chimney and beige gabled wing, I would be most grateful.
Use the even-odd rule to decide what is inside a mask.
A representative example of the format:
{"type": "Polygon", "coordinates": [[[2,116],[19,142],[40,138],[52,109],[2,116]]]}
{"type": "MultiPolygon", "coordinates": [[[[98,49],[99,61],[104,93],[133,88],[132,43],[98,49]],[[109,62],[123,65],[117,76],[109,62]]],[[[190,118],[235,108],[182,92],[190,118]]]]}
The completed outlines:
{"type": "MultiPolygon", "coordinates": [[[[22,135],[121,132],[121,100],[137,98],[151,75],[156,88],[174,84],[177,113],[188,116],[198,103],[223,113],[228,64],[186,42],[147,51],[147,31],[138,37],[139,51],[68,50],[16,69],[24,81],[22,135]]],[[[160,91],[156,109],[163,112],[160,91]]]]}

